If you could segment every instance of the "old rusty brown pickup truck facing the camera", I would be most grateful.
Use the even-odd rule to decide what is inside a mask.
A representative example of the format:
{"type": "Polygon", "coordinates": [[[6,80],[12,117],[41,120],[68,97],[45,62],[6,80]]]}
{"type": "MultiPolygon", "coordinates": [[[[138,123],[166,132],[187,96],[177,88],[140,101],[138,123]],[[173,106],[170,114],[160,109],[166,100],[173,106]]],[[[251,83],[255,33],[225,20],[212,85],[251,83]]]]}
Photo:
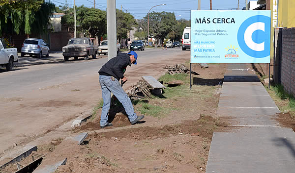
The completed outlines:
{"type": "Polygon", "coordinates": [[[68,61],[70,57],[74,57],[75,60],[84,57],[84,60],[88,60],[89,55],[95,59],[98,53],[98,44],[95,38],[71,38],[68,45],[62,47],[61,50],[64,61],[68,61]]]}

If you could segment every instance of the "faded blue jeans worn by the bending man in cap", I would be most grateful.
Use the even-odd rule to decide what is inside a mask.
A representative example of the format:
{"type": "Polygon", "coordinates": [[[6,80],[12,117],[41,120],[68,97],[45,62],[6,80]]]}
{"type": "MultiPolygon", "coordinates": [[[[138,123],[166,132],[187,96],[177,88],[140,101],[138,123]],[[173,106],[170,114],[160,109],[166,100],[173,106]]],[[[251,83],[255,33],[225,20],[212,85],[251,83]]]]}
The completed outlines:
{"type": "Polygon", "coordinates": [[[111,106],[111,92],[122,103],[125,112],[128,115],[129,121],[134,121],[137,118],[137,115],[134,112],[131,100],[121,87],[119,81],[117,79],[115,79],[115,81],[112,81],[111,76],[99,75],[99,83],[101,86],[103,99],[103,106],[100,116],[100,126],[106,125],[108,123],[108,113],[111,106]]]}

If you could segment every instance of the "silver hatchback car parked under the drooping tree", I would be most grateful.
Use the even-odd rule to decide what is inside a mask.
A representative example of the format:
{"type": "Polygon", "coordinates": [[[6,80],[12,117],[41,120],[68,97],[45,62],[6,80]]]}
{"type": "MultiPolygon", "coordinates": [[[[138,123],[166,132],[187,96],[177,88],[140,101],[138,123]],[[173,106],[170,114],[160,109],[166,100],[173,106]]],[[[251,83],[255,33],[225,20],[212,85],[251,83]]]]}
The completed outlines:
{"type": "Polygon", "coordinates": [[[24,41],[21,49],[21,56],[25,55],[37,55],[37,58],[41,58],[42,55],[49,57],[50,49],[42,39],[28,38],[24,41]]]}

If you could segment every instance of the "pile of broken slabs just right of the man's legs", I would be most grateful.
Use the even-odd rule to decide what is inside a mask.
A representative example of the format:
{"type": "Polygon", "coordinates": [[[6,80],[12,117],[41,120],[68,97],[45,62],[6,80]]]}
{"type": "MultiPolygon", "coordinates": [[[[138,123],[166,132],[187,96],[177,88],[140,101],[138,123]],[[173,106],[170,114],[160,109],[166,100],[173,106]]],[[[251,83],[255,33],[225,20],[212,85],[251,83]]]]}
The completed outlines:
{"type": "Polygon", "coordinates": [[[141,98],[141,99],[151,99],[152,94],[161,95],[162,89],[166,88],[153,76],[142,76],[143,80],[139,80],[136,85],[132,85],[132,89],[127,95],[129,97],[141,98]]]}

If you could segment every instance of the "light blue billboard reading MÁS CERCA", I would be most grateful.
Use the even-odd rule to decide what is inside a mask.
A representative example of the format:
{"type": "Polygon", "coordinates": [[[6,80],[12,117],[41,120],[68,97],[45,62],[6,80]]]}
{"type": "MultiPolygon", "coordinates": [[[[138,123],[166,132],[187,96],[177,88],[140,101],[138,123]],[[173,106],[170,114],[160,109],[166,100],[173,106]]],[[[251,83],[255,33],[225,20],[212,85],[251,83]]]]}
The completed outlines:
{"type": "Polygon", "coordinates": [[[270,10],[191,11],[191,63],[269,63],[270,10]]]}

